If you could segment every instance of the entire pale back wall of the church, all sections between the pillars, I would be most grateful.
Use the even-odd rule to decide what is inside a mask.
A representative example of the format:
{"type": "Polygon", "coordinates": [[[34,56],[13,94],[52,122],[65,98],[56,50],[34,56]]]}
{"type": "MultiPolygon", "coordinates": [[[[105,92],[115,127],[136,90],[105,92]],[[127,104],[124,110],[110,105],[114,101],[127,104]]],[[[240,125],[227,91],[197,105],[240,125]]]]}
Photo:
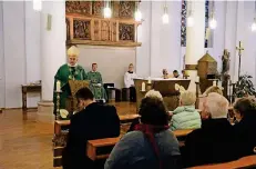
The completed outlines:
{"type": "MultiPolygon", "coordinates": [[[[158,77],[162,69],[171,72],[183,69],[185,48],[181,47],[181,1],[167,1],[170,23],[162,23],[164,2],[142,0],[140,9],[143,23],[139,27],[139,48],[81,46],[80,63],[86,71],[92,62],[99,63],[104,82],[123,87],[123,73],[130,62],[135,63],[140,77],[158,77]],[[116,74],[117,76],[113,76],[116,74]]],[[[222,68],[221,56],[226,48],[231,52],[231,74],[235,79],[238,69],[236,46],[242,40],[242,73],[253,76],[256,83],[256,33],[250,31],[254,19],[252,1],[216,1],[217,28],[213,47],[205,49],[222,68]]],[[[0,107],[21,107],[21,84],[41,79],[40,71],[40,13],[32,2],[0,2],[0,107]]],[[[63,28],[65,29],[65,28],[63,28]]],[[[237,79],[237,78],[236,78],[237,79]]],[[[28,96],[28,106],[35,107],[39,95],[28,96]]]]}

